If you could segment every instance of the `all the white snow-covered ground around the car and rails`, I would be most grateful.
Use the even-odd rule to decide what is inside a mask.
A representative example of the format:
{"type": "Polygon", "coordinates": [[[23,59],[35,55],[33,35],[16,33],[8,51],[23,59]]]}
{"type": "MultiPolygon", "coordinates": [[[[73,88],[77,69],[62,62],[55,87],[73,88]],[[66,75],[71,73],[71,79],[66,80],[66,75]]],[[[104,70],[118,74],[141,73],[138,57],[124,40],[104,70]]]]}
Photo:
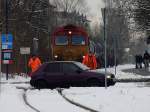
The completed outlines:
{"type": "MultiPolygon", "coordinates": [[[[117,78],[140,78],[134,73],[124,73],[121,70],[134,68],[134,65],[121,65],[117,67],[117,78]]],[[[99,71],[99,70],[97,70],[99,71]]],[[[114,68],[108,71],[114,72],[114,68]]],[[[12,84],[12,82],[26,82],[30,78],[16,76],[5,80],[2,77],[0,89],[0,112],[34,112],[23,101],[23,90],[17,86],[28,88],[29,84],[12,84]]],[[[65,89],[63,94],[82,105],[100,112],[149,112],[150,88],[145,83],[117,83],[108,87],[72,87],[65,89]]],[[[66,102],[56,90],[27,90],[27,101],[41,112],[87,112],[66,102]]]]}

